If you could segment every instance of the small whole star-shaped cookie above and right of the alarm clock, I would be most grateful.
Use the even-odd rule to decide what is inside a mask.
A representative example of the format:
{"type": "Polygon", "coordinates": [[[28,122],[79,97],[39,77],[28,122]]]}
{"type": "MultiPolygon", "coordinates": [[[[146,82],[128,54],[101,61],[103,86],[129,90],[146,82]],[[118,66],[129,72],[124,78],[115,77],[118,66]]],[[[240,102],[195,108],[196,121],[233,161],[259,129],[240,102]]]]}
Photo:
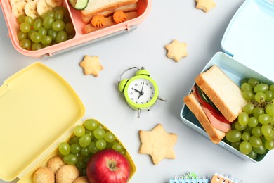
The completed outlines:
{"type": "Polygon", "coordinates": [[[186,46],[186,43],[178,42],[178,40],[175,39],[173,42],[171,42],[171,44],[168,44],[164,47],[167,49],[167,57],[178,62],[181,60],[181,58],[188,56],[186,46]]]}

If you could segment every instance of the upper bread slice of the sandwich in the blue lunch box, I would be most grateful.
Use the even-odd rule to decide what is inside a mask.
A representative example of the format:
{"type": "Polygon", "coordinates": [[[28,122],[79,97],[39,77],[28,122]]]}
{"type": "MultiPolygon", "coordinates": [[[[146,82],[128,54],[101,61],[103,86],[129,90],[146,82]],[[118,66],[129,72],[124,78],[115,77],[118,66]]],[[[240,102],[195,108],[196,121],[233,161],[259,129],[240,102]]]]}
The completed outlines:
{"type": "Polygon", "coordinates": [[[198,75],[195,82],[230,122],[237,118],[247,103],[242,97],[240,87],[217,65],[198,75]]]}

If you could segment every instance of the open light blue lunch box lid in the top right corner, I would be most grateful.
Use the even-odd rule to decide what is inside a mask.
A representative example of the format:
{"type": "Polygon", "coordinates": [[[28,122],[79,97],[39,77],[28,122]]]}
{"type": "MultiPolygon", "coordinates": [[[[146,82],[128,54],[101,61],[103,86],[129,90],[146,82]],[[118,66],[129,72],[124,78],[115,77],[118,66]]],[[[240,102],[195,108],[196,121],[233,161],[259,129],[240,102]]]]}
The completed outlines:
{"type": "Polygon", "coordinates": [[[230,20],[221,47],[237,62],[273,81],[274,1],[244,1],[230,20]]]}

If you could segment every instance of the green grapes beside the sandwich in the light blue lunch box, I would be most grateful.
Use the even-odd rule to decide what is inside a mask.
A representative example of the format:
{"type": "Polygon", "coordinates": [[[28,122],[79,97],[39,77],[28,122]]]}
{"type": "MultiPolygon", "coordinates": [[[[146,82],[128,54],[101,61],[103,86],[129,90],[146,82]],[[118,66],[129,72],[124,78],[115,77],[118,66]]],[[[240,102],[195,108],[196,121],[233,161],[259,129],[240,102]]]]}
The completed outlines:
{"type": "Polygon", "coordinates": [[[274,84],[244,79],[241,90],[247,104],[226,139],[235,149],[255,159],[274,149],[274,84]]]}

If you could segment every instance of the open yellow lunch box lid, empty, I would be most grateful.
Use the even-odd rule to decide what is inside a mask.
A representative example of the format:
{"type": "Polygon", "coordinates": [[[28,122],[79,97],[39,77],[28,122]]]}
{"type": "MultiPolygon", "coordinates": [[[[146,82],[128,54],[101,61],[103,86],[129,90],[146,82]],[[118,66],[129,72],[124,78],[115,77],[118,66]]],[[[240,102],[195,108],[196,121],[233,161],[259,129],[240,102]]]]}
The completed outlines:
{"type": "Polygon", "coordinates": [[[0,179],[23,177],[81,122],[85,108],[63,77],[42,63],[0,87],[0,179]]]}

